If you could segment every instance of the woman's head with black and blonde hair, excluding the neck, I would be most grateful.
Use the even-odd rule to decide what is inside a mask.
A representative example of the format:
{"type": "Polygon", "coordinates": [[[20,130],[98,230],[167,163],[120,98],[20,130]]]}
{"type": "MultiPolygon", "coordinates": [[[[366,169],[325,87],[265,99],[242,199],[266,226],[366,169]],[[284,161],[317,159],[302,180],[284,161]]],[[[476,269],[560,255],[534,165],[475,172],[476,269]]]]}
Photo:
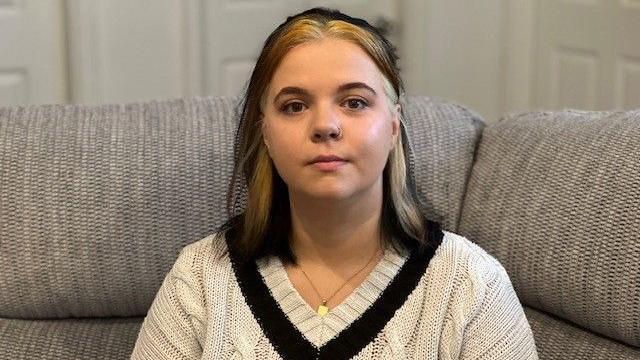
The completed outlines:
{"type": "Polygon", "coordinates": [[[241,178],[248,199],[234,219],[237,248],[295,262],[290,196],[345,200],[376,189],[383,235],[420,243],[424,218],[405,165],[403,92],[395,48],[364,20],[315,8],[281,24],[241,104],[230,211],[241,178]],[[311,164],[319,155],[345,161],[311,164]]]}

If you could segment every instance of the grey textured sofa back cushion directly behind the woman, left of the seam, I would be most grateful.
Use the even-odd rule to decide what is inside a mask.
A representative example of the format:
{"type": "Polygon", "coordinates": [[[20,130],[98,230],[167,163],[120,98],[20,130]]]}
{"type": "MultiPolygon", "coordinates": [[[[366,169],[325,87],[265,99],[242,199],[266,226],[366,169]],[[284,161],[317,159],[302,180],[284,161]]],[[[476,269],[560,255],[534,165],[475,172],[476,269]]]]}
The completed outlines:
{"type": "MultiPolygon", "coordinates": [[[[0,317],[141,316],[227,220],[236,98],[0,108],[0,317]]],[[[428,216],[455,230],[482,121],[405,104],[428,216]]]]}

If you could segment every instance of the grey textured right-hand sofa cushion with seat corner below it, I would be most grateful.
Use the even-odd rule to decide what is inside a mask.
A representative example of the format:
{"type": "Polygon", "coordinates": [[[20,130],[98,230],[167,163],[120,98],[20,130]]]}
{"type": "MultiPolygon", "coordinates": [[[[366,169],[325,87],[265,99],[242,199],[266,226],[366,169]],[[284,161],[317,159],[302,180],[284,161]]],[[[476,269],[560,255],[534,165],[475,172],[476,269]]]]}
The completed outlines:
{"type": "MultiPolygon", "coordinates": [[[[524,304],[634,355],[590,354],[638,359],[639,202],[640,111],[513,114],[483,132],[459,232],[505,266],[524,304]]],[[[596,339],[535,314],[541,358],[596,339]]]]}

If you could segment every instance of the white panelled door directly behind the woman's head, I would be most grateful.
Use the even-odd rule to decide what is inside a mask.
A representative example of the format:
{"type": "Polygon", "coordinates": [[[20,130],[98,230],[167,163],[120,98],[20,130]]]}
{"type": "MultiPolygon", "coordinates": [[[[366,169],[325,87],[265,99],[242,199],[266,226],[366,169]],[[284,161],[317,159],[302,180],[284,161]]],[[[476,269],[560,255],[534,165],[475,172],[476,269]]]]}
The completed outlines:
{"type": "MultiPolygon", "coordinates": [[[[205,94],[239,95],[249,81],[267,36],[287,16],[314,6],[333,7],[390,28],[397,41],[393,0],[217,0],[203,2],[203,88],[205,94]]],[[[396,42],[397,43],[397,42],[396,42]]]]}

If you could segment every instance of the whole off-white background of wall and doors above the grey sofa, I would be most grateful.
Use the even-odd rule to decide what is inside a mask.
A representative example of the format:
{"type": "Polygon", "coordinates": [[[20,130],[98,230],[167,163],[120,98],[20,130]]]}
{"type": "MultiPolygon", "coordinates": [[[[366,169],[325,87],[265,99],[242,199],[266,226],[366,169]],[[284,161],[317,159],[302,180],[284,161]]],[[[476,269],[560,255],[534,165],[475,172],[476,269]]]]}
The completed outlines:
{"type": "Polygon", "coordinates": [[[407,92],[487,122],[640,107],[640,6],[604,0],[4,0],[0,104],[229,95],[267,33],[320,3],[390,20],[407,92]]]}

